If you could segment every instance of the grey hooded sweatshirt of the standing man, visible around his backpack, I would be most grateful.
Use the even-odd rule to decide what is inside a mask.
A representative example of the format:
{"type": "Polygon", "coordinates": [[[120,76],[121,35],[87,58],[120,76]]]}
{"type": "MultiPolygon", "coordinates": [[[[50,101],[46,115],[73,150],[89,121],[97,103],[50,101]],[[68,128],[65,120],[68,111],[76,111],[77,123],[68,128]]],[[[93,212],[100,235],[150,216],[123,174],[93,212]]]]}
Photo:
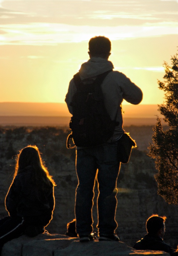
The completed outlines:
{"type": "MultiPolygon", "coordinates": [[[[100,57],[92,57],[81,65],[79,74],[81,80],[83,80],[86,78],[94,78],[113,68],[111,61],[100,57]]],[[[111,71],[101,84],[101,89],[104,96],[105,107],[108,114],[111,116],[111,119],[114,120],[117,114],[116,121],[119,121],[119,125],[116,126],[111,141],[118,140],[124,133],[121,109],[123,99],[131,104],[137,105],[142,101],[143,93],[138,86],[132,83],[127,76],[119,71],[111,71]]],[[[74,84],[74,79],[72,79],[69,83],[65,99],[71,114],[73,114],[73,110],[70,103],[72,102],[75,92],[76,86],[74,84]]]]}

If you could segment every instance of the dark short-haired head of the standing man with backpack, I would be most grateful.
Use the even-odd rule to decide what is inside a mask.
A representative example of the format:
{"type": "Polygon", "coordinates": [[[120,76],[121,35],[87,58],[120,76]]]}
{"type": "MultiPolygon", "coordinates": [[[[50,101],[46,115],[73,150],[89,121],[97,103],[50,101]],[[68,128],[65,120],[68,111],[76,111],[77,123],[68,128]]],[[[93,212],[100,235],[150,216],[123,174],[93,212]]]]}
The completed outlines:
{"type": "Polygon", "coordinates": [[[111,54],[111,41],[105,36],[95,36],[89,40],[89,57],[108,59],[111,54]]]}

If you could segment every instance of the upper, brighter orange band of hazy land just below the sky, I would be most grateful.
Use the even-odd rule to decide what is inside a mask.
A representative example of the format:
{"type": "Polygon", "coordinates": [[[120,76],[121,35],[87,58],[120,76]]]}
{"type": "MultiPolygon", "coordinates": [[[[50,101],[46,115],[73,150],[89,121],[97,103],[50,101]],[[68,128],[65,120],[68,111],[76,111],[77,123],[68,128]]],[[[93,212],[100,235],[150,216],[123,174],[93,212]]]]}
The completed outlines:
{"type": "MultiPolygon", "coordinates": [[[[123,105],[123,117],[155,118],[158,115],[157,105],[123,105]]],[[[71,116],[65,103],[23,103],[0,102],[0,116],[71,116]]]]}

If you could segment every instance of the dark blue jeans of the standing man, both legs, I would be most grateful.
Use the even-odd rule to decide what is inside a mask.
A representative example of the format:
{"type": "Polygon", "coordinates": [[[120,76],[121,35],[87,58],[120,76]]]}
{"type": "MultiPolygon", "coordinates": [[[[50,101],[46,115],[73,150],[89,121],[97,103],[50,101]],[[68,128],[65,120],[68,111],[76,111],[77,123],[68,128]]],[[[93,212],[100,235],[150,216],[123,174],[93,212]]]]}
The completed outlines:
{"type": "Polygon", "coordinates": [[[79,181],[75,202],[76,232],[79,236],[93,232],[92,207],[97,178],[97,228],[100,235],[112,235],[117,228],[116,183],[120,169],[120,163],[117,161],[117,142],[77,149],[76,152],[76,172],[79,181]]]}

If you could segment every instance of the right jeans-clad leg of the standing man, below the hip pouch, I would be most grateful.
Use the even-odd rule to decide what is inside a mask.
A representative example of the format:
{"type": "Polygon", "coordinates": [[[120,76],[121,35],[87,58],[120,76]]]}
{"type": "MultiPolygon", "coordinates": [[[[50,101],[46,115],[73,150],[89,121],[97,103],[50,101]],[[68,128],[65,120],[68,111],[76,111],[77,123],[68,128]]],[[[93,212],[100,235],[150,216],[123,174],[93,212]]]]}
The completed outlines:
{"type": "Polygon", "coordinates": [[[98,155],[99,183],[98,229],[99,234],[113,235],[117,228],[115,213],[117,207],[117,178],[120,163],[117,161],[117,143],[104,144],[98,155]]]}

